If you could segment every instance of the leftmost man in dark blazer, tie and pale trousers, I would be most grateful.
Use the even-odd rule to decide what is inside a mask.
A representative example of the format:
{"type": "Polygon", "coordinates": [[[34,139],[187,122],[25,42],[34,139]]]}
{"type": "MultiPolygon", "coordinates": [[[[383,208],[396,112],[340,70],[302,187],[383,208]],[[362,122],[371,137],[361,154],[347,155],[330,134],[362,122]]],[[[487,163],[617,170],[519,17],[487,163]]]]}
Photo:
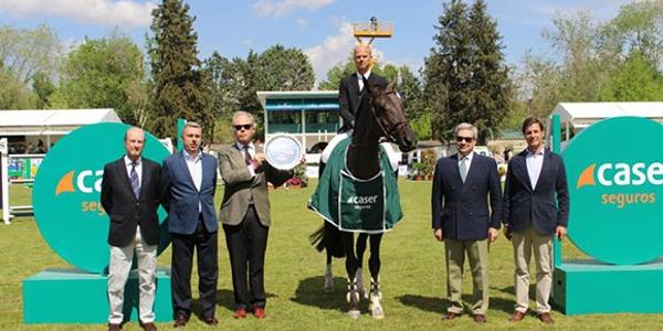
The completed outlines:
{"type": "Polygon", "coordinates": [[[110,218],[108,244],[108,330],[119,330],[124,320],[124,291],[134,249],[138,256],[139,313],[145,330],[157,330],[154,321],[155,275],[159,244],[160,167],[143,158],[145,132],[129,128],[124,137],[126,154],[104,167],[102,205],[110,218]]]}

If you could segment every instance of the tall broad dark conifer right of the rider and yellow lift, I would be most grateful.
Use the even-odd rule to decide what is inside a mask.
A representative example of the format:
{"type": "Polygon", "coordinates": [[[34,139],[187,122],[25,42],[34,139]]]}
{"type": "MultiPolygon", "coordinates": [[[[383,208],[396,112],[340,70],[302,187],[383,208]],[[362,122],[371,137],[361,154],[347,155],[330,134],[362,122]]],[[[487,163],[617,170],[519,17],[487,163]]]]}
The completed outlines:
{"type": "Polygon", "coordinates": [[[472,9],[461,0],[443,7],[435,25],[435,46],[423,68],[423,96],[433,137],[450,139],[456,124],[472,122],[480,130],[478,142],[485,143],[509,106],[501,36],[482,0],[472,9]]]}

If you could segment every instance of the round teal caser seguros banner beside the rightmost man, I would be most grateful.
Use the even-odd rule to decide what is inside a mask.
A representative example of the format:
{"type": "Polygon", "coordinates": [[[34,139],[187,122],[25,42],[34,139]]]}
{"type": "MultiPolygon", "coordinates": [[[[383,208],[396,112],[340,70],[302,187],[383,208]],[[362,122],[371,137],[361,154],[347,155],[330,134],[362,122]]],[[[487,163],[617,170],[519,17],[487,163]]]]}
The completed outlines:
{"type": "Polygon", "coordinates": [[[663,256],[663,125],[614,117],[564,150],[569,237],[601,261],[633,265],[663,256]]]}

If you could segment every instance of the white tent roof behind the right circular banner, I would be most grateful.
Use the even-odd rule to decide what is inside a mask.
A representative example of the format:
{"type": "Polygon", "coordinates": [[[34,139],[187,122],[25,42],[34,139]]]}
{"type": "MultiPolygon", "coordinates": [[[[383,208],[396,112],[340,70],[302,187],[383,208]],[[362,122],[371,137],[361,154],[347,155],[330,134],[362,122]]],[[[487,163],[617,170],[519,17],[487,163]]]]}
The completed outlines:
{"type": "Polygon", "coordinates": [[[559,115],[566,139],[590,125],[610,117],[638,116],[663,122],[663,103],[561,103],[552,110],[559,115]]]}

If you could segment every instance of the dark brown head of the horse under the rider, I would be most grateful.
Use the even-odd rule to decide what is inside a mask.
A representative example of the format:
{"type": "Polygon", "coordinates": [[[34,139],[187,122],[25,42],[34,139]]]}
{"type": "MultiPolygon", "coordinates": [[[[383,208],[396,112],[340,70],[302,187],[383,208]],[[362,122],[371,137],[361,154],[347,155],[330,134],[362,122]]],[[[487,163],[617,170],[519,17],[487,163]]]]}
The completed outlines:
{"type": "Polygon", "coordinates": [[[382,130],[383,136],[398,145],[402,152],[409,152],[417,147],[417,135],[408,124],[403,114],[403,104],[393,89],[393,84],[386,88],[369,86],[371,108],[382,130]]]}

